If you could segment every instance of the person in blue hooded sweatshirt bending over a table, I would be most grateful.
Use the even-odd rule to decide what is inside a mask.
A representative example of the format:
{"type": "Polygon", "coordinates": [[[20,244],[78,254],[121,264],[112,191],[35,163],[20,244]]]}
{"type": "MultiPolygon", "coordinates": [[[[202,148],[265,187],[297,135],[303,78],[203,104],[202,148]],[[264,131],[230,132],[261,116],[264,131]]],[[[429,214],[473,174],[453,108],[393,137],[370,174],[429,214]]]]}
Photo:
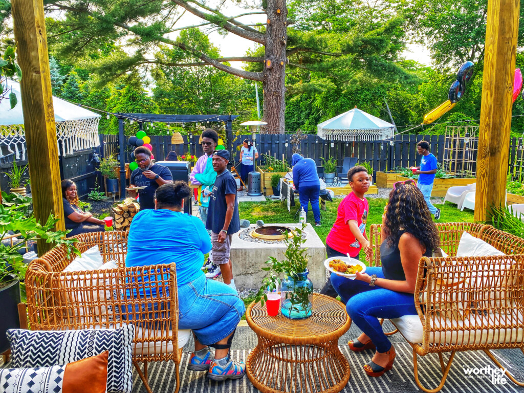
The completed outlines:
{"type": "Polygon", "coordinates": [[[291,166],[293,167],[293,184],[299,193],[300,207],[307,215],[308,203],[311,203],[315,225],[320,226],[320,179],[316,172],[315,161],[295,153],[291,156],[291,166]]]}

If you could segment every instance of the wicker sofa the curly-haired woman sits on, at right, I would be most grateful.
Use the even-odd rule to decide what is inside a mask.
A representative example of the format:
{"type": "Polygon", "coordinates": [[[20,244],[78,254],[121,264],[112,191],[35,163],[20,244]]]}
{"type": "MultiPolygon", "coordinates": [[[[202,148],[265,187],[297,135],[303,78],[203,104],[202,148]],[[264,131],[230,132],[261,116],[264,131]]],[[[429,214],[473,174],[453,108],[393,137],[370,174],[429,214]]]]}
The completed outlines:
{"type": "MultiPolygon", "coordinates": [[[[520,348],[524,353],[524,239],[493,226],[471,223],[437,224],[441,247],[449,257],[419,262],[414,302],[418,315],[391,320],[413,348],[417,385],[437,392],[444,386],[457,351],[484,351],[499,368],[490,350],[520,348]],[[462,233],[481,238],[507,256],[455,257],[462,233]],[[510,255],[510,256],[509,256],[510,255]],[[444,363],[442,354],[449,352],[444,363]],[[442,379],[434,389],[422,386],[417,356],[437,353],[442,379]]],[[[375,266],[380,265],[380,226],[371,227],[375,266]]],[[[506,375],[519,386],[507,370],[506,375]]]]}

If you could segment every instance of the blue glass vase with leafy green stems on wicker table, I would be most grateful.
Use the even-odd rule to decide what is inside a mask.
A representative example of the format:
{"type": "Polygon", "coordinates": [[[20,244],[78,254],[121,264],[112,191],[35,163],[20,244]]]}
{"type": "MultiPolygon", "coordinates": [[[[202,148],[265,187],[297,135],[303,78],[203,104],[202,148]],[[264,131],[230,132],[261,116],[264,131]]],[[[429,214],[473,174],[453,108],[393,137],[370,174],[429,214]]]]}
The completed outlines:
{"type": "Polygon", "coordinates": [[[302,248],[302,244],[305,243],[302,233],[306,226],[307,224],[304,223],[301,229],[295,228],[294,236],[288,236],[287,231],[285,232],[287,249],[284,259],[269,257],[266,261],[270,266],[262,270],[268,271],[269,274],[262,281],[255,300],[264,305],[267,301],[265,290],[272,291],[280,283],[280,312],[291,319],[304,319],[311,316],[313,283],[308,278],[307,248],[302,248]],[[282,274],[284,278],[281,280],[279,276],[282,274]]]}

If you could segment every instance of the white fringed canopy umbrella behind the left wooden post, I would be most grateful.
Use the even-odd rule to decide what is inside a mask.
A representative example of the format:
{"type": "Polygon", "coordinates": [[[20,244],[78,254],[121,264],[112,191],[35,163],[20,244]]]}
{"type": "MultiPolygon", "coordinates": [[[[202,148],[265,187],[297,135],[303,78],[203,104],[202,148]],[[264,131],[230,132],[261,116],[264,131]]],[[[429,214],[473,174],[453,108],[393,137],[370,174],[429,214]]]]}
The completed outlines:
{"type": "MultiPolygon", "coordinates": [[[[18,104],[10,109],[8,99],[0,101],[0,146],[15,153],[17,160],[26,159],[24,113],[20,84],[7,81],[9,89],[16,94],[18,104]]],[[[5,80],[4,80],[5,86],[5,80]]],[[[100,115],[53,96],[54,121],[57,128],[59,155],[72,154],[100,145],[98,124],[100,115]]]]}

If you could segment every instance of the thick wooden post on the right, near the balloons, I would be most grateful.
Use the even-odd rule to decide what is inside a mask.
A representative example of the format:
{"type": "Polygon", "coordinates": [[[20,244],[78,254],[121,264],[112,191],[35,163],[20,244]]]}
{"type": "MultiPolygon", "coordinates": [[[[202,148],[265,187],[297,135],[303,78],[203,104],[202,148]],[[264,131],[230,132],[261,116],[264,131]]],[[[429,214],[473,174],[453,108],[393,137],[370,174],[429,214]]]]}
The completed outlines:
{"type": "Polygon", "coordinates": [[[489,220],[489,207],[506,203],[519,8],[519,0],[488,1],[475,221],[489,220]]]}

